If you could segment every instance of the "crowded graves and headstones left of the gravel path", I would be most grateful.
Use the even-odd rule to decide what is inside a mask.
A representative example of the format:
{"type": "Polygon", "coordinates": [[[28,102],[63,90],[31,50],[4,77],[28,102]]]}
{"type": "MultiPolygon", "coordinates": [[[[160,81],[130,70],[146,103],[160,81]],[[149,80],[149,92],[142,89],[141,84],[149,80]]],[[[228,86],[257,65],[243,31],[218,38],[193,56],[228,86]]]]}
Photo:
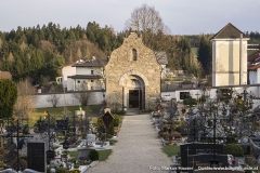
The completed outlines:
{"type": "Polygon", "coordinates": [[[107,147],[117,142],[120,117],[105,106],[96,123],[87,114],[81,109],[56,119],[44,111],[34,129],[21,119],[2,120],[0,172],[84,172],[104,160],[99,155],[110,154],[107,147]]]}

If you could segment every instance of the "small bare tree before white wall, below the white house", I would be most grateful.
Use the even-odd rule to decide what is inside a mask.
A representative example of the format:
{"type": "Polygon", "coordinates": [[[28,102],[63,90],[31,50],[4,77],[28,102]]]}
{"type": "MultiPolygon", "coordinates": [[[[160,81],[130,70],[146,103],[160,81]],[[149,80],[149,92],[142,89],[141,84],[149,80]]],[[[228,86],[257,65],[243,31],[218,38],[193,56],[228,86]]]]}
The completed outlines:
{"type": "Polygon", "coordinates": [[[94,101],[95,93],[88,90],[87,82],[81,82],[76,86],[76,91],[73,96],[81,104],[81,106],[88,106],[89,103],[94,101]]]}

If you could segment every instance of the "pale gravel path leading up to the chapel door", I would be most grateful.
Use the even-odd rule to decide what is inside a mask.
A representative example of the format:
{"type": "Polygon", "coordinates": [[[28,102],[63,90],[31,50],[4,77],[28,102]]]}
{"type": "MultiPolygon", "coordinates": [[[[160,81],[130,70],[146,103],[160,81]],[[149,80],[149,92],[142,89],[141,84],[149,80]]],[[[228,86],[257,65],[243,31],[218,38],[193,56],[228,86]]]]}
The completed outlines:
{"type": "Polygon", "coordinates": [[[151,115],[125,116],[118,143],[112,155],[87,173],[146,173],[169,172],[162,168],[172,164],[161,151],[161,142],[152,124],[151,115]]]}

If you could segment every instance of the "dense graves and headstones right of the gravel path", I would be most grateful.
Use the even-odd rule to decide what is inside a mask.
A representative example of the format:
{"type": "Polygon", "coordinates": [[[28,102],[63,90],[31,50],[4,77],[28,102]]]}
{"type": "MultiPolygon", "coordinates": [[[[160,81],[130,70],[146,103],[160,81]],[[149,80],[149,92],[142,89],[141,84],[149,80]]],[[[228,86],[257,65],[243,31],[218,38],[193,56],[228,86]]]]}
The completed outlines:
{"type": "Polygon", "coordinates": [[[182,172],[256,171],[260,160],[257,96],[247,88],[202,88],[193,95],[192,91],[179,94],[179,101],[158,99],[151,114],[162,145],[180,148],[171,167],[192,168],[182,172]]]}

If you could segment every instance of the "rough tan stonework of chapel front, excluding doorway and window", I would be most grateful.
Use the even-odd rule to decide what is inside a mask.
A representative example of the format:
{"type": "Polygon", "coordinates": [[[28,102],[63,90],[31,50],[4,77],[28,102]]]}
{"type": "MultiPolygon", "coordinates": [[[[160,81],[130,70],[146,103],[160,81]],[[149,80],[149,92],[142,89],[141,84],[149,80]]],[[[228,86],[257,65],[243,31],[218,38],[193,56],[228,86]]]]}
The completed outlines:
{"type": "Polygon", "coordinates": [[[108,106],[114,102],[110,95],[123,95],[126,88],[125,79],[129,76],[136,76],[143,80],[145,107],[151,99],[160,96],[160,71],[161,66],[157,63],[154,52],[142,43],[142,38],[131,32],[125,38],[120,48],[112,52],[110,59],[105,66],[106,72],[106,98],[108,106]],[[136,61],[133,59],[133,50],[136,50],[136,61]]]}

